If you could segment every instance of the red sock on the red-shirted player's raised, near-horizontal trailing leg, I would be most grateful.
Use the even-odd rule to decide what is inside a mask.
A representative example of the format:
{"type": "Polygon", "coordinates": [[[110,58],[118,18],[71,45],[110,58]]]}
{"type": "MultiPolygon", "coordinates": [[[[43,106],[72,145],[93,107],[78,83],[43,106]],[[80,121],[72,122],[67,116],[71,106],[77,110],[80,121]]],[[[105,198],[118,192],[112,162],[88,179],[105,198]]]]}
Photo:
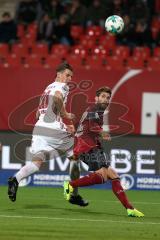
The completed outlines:
{"type": "Polygon", "coordinates": [[[78,178],[76,180],[70,181],[69,183],[73,188],[75,188],[75,187],[90,186],[90,185],[94,185],[94,184],[102,184],[102,183],[104,183],[104,180],[100,174],[91,173],[82,178],[78,178]]]}

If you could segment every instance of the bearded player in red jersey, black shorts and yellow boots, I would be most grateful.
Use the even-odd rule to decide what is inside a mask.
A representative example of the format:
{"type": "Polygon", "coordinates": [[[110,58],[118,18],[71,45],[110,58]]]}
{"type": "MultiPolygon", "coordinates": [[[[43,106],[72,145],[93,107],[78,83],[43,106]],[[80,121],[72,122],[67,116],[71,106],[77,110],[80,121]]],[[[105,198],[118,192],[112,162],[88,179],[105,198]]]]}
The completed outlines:
{"type": "Polygon", "coordinates": [[[111,98],[111,89],[101,87],[96,91],[95,104],[90,106],[82,115],[75,136],[75,158],[85,162],[89,171],[87,176],[72,181],[64,182],[64,195],[70,202],[74,188],[103,184],[107,180],[112,183],[112,191],[121,204],[126,208],[128,216],[143,217],[144,214],[133,207],[128,201],[126,193],[121,186],[117,172],[110,166],[110,162],[100,143],[103,140],[111,140],[110,135],[103,131],[103,115],[107,111],[111,98]]]}

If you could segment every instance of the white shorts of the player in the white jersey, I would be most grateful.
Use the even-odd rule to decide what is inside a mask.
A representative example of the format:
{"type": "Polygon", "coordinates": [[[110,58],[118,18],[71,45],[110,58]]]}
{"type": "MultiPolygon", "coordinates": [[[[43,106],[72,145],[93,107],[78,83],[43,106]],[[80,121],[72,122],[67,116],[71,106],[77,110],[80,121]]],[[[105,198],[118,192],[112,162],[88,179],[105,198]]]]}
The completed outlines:
{"type": "Polygon", "coordinates": [[[59,155],[70,157],[73,155],[73,136],[67,132],[66,125],[61,122],[44,123],[38,121],[33,129],[30,151],[33,157],[42,160],[59,155]]]}

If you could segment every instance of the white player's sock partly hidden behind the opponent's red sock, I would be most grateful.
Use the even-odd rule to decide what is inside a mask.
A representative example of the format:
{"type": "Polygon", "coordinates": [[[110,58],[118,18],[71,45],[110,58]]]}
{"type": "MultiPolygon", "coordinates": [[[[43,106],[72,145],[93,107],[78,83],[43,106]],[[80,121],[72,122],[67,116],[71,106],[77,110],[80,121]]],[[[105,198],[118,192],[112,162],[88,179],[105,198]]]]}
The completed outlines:
{"type": "MultiPolygon", "coordinates": [[[[76,180],[80,177],[80,162],[71,160],[69,166],[69,174],[71,180],[76,180]]],[[[72,193],[73,196],[78,195],[78,187],[75,187],[72,193]]]]}

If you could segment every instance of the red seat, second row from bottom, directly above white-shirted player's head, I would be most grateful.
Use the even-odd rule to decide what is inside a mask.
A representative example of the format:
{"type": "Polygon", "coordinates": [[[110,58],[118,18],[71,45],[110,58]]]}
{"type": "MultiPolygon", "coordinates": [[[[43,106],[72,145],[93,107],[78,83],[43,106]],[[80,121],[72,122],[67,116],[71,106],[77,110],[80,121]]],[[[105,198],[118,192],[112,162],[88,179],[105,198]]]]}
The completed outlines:
{"type": "Polygon", "coordinates": [[[54,44],[51,49],[51,54],[60,58],[66,58],[69,52],[69,46],[63,44],[54,44]]]}

